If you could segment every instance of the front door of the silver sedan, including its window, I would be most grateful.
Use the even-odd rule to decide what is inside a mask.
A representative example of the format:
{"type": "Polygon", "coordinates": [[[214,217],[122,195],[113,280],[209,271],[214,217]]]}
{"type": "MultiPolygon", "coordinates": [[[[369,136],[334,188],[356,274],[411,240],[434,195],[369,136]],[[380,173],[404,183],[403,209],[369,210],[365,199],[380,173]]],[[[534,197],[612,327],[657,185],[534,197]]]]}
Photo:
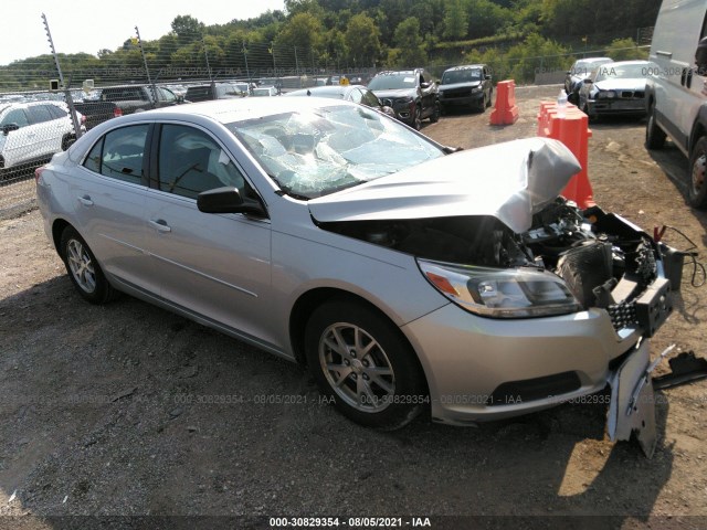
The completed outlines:
{"type": "Polygon", "coordinates": [[[193,125],[160,126],[147,194],[147,250],[162,298],[249,338],[268,336],[271,224],[243,214],[209,214],[197,195],[224,186],[256,198],[231,155],[193,125]]]}

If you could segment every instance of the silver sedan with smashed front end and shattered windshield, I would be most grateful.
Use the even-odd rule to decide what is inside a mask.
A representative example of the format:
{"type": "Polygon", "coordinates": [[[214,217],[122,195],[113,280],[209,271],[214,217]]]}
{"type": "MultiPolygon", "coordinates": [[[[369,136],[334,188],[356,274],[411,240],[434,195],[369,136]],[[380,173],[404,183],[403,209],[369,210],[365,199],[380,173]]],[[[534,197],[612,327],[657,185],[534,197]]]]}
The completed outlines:
{"type": "Polygon", "coordinates": [[[679,269],[558,197],[578,170],[551,139],[463,151],[347,102],[244,98],[112,119],[36,189],[85,299],[127,293],[306,363],[392,428],[546,409],[645,357],[679,269]]]}

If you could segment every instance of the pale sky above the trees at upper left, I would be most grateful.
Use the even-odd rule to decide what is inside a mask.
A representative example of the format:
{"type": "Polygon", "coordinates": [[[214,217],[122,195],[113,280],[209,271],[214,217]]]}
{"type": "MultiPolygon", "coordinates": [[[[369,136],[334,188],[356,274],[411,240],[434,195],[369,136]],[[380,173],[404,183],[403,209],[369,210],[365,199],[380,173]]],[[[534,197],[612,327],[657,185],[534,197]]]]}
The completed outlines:
{"type": "Polygon", "coordinates": [[[159,39],[171,31],[170,24],[179,14],[210,25],[285,9],[283,0],[3,0],[2,4],[0,65],[51,53],[42,13],[57,53],[95,55],[135,36],[136,25],[143,40],[159,39]]]}

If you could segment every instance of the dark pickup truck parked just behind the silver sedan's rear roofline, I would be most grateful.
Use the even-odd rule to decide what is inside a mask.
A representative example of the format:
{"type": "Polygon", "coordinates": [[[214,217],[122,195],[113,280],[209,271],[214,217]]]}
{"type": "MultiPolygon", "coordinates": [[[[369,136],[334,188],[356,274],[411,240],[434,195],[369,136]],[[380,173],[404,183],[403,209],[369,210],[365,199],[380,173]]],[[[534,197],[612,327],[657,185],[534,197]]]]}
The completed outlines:
{"type": "Polygon", "coordinates": [[[101,91],[96,102],[75,103],[74,107],[86,116],[86,129],[91,129],[107,119],[150,108],[169,107],[184,103],[169,88],[151,85],[107,86],[101,91]]]}

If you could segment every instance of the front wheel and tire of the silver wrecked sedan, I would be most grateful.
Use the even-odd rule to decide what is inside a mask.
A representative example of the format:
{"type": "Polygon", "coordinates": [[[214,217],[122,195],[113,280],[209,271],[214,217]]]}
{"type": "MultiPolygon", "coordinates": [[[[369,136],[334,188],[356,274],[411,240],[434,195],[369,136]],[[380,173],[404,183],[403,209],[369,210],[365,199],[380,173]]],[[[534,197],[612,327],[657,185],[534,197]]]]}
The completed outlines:
{"type": "Polygon", "coordinates": [[[319,306],[307,322],[305,349],[321,392],[356,423],[400,428],[429,402],[422,369],[405,338],[362,304],[331,300],[319,306]]]}

